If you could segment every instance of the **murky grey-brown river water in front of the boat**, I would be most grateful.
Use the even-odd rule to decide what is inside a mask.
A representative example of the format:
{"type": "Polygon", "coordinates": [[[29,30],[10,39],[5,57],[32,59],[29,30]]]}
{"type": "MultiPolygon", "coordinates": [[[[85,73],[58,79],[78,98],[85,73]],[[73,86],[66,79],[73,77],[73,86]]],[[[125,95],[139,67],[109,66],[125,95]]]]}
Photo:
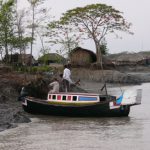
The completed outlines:
{"type": "Polygon", "coordinates": [[[0,132],[0,150],[149,150],[150,84],[125,118],[38,116],[0,132]]]}

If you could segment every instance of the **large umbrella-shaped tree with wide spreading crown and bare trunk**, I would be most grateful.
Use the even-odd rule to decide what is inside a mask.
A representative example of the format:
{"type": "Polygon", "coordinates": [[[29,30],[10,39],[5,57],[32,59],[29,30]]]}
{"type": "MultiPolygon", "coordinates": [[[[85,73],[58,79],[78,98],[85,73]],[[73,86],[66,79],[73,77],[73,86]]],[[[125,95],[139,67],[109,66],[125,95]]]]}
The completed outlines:
{"type": "Polygon", "coordinates": [[[131,23],[128,23],[121,14],[112,6],[91,4],[68,10],[60,20],[63,24],[73,25],[86,38],[94,41],[97,63],[102,64],[100,47],[105,36],[116,30],[131,33],[129,31],[131,23]]]}

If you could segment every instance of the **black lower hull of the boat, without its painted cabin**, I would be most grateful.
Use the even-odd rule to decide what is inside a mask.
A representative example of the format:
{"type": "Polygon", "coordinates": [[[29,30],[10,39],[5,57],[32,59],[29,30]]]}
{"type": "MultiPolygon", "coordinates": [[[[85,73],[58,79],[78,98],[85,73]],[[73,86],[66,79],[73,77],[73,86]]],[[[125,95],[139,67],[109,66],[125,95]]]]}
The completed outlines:
{"type": "Polygon", "coordinates": [[[23,109],[26,112],[34,114],[47,114],[57,116],[77,116],[77,117],[121,117],[128,116],[130,112],[130,106],[120,106],[114,109],[110,109],[110,102],[97,102],[88,105],[58,105],[48,103],[46,100],[34,100],[25,98],[23,102],[23,109]]]}

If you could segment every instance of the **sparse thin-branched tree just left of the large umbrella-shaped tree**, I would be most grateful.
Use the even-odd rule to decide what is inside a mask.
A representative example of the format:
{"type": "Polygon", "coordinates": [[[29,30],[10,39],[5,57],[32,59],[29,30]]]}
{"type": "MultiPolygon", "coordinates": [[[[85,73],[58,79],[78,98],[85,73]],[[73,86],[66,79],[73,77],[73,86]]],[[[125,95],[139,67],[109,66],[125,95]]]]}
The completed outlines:
{"type": "Polygon", "coordinates": [[[52,46],[60,45],[60,49],[57,50],[57,53],[69,56],[71,51],[81,42],[81,35],[76,32],[76,29],[70,25],[53,21],[48,24],[46,36],[49,37],[49,43],[51,43],[52,46]]]}

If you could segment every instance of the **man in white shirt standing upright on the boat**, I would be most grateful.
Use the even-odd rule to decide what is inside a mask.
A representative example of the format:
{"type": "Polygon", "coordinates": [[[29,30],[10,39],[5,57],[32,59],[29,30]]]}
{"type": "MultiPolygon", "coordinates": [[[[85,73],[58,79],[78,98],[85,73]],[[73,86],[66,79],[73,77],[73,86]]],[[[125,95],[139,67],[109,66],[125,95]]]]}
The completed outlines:
{"type": "Polygon", "coordinates": [[[64,65],[63,83],[64,83],[65,92],[69,92],[70,91],[70,85],[73,84],[70,76],[71,76],[71,71],[70,71],[69,65],[64,65]]]}

